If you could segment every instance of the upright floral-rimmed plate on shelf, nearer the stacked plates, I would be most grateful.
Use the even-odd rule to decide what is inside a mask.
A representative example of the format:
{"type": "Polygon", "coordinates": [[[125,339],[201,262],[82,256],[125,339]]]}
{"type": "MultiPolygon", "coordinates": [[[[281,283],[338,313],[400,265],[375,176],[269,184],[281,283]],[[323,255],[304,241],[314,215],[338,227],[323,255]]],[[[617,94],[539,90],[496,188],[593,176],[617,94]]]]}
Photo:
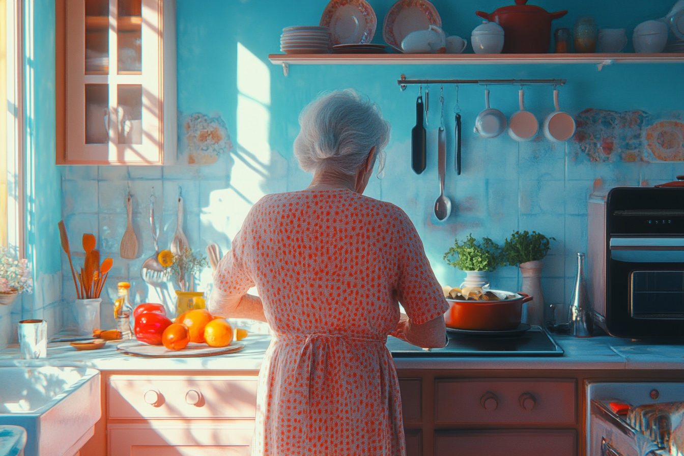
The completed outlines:
{"type": "Polygon", "coordinates": [[[378,19],[365,0],[330,0],[321,16],[321,27],[330,27],[330,43],[365,44],[373,41],[378,19]]]}

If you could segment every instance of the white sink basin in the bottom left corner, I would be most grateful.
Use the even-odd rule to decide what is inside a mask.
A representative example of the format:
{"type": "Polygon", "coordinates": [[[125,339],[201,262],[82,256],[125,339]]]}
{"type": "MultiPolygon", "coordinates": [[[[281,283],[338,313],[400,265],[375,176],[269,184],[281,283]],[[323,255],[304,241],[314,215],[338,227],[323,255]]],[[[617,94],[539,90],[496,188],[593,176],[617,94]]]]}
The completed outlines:
{"type": "Polygon", "coordinates": [[[100,373],[91,368],[0,368],[0,425],[26,429],[25,456],[73,456],[100,419],[100,373]]]}

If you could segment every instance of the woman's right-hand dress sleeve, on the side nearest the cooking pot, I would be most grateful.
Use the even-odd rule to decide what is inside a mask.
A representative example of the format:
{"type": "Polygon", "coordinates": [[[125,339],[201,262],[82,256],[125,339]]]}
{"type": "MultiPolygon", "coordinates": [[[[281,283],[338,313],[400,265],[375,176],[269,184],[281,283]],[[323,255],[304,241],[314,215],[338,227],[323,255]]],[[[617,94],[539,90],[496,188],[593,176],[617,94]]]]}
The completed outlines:
{"type": "Polygon", "coordinates": [[[443,315],[449,310],[442,287],[437,282],[428,257],[425,256],[415,226],[401,209],[395,231],[399,278],[397,292],[399,302],[406,310],[408,318],[417,325],[443,315]]]}

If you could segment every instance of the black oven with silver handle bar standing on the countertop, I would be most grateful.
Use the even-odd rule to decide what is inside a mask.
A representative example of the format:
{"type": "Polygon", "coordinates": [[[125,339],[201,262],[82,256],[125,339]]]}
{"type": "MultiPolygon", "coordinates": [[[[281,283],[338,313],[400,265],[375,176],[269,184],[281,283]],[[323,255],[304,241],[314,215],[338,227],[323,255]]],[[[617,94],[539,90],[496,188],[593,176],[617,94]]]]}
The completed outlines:
{"type": "Polygon", "coordinates": [[[588,224],[599,326],[619,337],[684,337],[684,187],[592,196],[588,224]]]}

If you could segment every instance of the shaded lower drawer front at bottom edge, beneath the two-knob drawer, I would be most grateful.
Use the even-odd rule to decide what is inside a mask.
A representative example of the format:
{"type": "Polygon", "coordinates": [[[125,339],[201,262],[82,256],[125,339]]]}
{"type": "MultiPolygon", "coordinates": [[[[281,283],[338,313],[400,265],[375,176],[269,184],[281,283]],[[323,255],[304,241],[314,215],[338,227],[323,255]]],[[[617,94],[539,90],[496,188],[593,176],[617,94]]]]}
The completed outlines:
{"type": "Polygon", "coordinates": [[[575,456],[575,431],[446,431],[434,436],[435,456],[575,456]]]}

